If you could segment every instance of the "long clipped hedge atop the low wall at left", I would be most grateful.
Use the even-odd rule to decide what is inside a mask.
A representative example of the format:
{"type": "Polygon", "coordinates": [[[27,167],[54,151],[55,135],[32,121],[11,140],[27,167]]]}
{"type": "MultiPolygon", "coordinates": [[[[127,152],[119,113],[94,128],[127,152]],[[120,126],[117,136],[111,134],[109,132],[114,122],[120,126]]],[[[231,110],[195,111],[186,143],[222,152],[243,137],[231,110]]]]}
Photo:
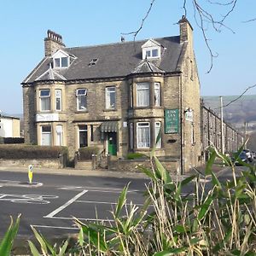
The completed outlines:
{"type": "Polygon", "coordinates": [[[0,145],[0,159],[56,159],[67,147],[8,144],[0,145]]]}

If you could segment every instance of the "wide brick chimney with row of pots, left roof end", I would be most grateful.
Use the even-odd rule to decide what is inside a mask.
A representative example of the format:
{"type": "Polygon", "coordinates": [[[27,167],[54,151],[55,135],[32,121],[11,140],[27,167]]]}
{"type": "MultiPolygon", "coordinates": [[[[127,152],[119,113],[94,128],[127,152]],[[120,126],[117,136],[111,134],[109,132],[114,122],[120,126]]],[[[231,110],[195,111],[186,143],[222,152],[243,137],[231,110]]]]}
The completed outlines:
{"type": "Polygon", "coordinates": [[[62,43],[61,35],[48,30],[47,38],[44,38],[44,55],[53,55],[58,49],[65,47],[66,45],[62,43]]]}

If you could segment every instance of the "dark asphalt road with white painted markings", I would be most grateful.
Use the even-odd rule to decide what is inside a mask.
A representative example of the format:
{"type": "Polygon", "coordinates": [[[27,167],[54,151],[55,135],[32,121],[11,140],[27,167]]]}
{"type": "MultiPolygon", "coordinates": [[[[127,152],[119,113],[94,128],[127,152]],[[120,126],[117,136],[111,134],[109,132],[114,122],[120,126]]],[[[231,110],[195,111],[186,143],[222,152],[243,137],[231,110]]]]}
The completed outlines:
{"type": "Polygon", "coordinates": [[[9,216],[21,213],[18,237],[32,236],[31,225],[45,236],[78,233],[73,217],[82,221],[112,221],[121,190],[131,182],[127,201],[143,203],[148,180],[119,177],[79,177],[38,174],[30,185],[26,173],[0,173],[0,236],[9,216]]]}

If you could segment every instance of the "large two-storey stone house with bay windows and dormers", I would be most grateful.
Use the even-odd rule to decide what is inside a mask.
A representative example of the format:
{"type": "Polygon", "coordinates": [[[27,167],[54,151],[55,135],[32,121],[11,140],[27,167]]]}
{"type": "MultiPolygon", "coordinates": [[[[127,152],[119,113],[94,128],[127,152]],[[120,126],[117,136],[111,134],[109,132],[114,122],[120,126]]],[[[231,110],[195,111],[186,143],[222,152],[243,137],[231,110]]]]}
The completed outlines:
{"type": "Polygon", "coordinates": [[[200,84],[193,29],[180,35],[68,48],[48,31],[45,56],[22,82],[25,140],[157,155],[186,172],[201,163],[200,84]],[[157,135],[160,140],[156,143],[157,135]]]}

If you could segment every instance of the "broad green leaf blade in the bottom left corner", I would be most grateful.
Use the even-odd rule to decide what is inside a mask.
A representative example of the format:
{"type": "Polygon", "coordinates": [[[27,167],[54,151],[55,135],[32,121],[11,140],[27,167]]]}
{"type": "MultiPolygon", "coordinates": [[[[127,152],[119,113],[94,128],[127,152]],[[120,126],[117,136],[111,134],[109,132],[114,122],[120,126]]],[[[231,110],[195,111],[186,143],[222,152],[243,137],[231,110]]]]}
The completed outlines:
{"type": "Polygon", "coordinates": [[[9,256],[14,245],[15,236],[17,235],[19,225],[20,225],[20,214],[16,218],[15,222],[12,217],[9,224],[9,229],[6,231],[3,236],[3,240],[0,243],[0,255],[9,256]]]}

